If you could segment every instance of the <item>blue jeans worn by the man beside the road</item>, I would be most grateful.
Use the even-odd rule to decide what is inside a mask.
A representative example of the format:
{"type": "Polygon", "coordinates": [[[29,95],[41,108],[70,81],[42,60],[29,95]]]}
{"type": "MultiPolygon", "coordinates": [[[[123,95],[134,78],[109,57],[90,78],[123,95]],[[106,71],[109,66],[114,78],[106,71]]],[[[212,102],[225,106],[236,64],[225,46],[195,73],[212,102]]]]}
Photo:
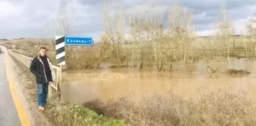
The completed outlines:
{"type": "Polygon", "coordinates": [[[37,83],[37,103],[38,106],[46,105],[49,82],[37,83]]]}

